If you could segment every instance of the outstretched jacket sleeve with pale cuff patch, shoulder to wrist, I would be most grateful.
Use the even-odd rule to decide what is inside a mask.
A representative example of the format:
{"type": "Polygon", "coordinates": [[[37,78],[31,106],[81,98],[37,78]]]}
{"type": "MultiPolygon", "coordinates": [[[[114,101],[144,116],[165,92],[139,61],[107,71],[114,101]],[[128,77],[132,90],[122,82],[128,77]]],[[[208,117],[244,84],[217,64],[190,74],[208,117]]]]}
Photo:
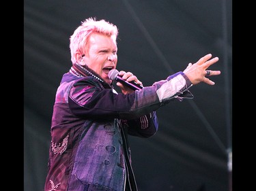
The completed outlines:
{"type": "Polygon", "coordinates": [[[68,104],[72,113],[82,118],[137,120],[171,100],[193,98],[190,86],[186,75],[179,72],[131,94],[117,94],[98,80],[84,77],[70,88],[68,104]]]}

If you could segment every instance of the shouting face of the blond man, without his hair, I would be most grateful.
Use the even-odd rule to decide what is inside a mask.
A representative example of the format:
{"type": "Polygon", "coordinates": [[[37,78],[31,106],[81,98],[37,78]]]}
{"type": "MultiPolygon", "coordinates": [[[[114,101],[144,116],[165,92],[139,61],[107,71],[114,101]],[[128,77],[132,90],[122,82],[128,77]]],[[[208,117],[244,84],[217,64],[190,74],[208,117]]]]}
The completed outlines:
{"type": "Polygon", "coordinates": [[[117,44],[113,37],[108,37],[100,33],[93,33],[89,37],[89,51],[83,58],[85,64],[94,70],[108,84],[109,71],[117,67],[117,44]]]}

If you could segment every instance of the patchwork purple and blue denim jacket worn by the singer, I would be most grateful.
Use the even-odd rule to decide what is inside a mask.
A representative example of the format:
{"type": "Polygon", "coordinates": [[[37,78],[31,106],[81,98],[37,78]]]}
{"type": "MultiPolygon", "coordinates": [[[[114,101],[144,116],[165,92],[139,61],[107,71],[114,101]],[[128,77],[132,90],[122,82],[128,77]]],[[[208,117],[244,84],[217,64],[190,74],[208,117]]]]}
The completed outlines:
{"type": "Polygon", "coordinates": [[[190,86],[179,72],[124,95],[93,76],[64,74],[53,107],[44,191],[137,190],[128,135],[155,135],[156,110],[193,98],[190,86]]]}

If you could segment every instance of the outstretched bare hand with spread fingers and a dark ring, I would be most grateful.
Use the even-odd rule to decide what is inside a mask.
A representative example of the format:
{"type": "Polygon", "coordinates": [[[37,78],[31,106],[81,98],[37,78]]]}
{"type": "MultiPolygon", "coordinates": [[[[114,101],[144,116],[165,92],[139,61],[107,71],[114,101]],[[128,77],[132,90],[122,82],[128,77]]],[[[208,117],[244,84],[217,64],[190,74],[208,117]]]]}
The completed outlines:
{"type": "Polygon", "coordinates": [[[221,71],[207,70],[210,65],[213,65],[218,61],[218,57],[210,58],[212,58],[212,54],[207,54],[200,58],[197,63],[189,63],[183,71],[193,85],[199,84],[200,82],[204,82],[209,85],[215,84],[215,82],[210,80],[208,77],[211,75],[220,75],[221,71]]]}

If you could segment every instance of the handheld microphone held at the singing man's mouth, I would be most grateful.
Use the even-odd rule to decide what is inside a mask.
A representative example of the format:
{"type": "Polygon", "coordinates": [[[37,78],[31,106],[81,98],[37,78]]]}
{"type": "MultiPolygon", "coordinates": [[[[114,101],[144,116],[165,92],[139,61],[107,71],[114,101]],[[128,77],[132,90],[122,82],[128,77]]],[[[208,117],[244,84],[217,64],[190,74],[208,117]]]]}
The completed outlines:
{"type": "Polygon", "coordinates": [[[128,88],[131,88],[132,90],[141,90],[143,88],[143,86],[137,84],[134,81],[127,82],[121,76],[119,76],[118,73],[119,73],[119,71],[117,69],[111,69],[111,71],[109,71],[109,79],[120,82],[121,84],[123,84],[124,86],[126,86],[128,88]]]}

